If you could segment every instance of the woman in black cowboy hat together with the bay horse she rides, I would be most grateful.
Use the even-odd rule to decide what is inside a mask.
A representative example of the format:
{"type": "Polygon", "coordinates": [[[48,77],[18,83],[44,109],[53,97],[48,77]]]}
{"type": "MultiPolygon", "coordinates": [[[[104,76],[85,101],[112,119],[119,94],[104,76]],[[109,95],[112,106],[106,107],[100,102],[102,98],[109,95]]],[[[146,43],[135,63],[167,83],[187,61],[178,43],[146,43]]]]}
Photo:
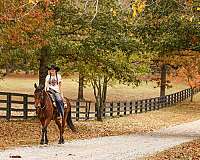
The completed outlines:
{"type": "Polygon", "coordinates": [[[35,91],[34,91],[34,99],[35,99],[35,108],[36,114],[40,119],[42,124],[42,137],[40,144],[48,144],[47,138],[47,127],[50,124],[51,120],[55,120],[59,131],[60,131],[60,138],[59,144],[64,143],[64,129],[66,126],[66,122],[68,127],[72,131],[76,131],[75,127],[72,123],[71,118],[71,104],[69,100],[65,97],[63,98],[60,93],[61,92],[61,76],[57,74],[59,68],[55,65],[52,65],[50,69],[50,75],[46,78],[45,89],[43,86],[35,84],[35,91]],[[53,93],[55,101],[59,109],[56,109],[52,103],[52,99],[49,95],[49,92],[53,93]],[[64,108],[63,100],[65,100],[67,107],[64,108]],[[62,116],[62,122],[58,119],[58,110],[62,116]]]}

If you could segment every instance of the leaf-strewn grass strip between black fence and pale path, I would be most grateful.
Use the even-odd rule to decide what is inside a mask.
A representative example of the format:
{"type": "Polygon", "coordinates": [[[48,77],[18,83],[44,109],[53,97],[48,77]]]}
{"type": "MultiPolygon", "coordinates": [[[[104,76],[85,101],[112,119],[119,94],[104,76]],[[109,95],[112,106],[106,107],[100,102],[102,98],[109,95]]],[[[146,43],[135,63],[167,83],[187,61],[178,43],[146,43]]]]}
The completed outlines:
{"type": "MultiPolygon", "coordinates": [[[[162,127],[198,120],[200,118],[198,99],[195,96],[193,103],[183,102],[177,106],[164,108],[143,114],[133,114],[126,117],[105,119],[103,122],[78,121],[74,122],[77,133],[68,129],[65,131],[65,140],[87,139],[100,136],[123,135],[131,133],[145,133],[162,127]]],[[[58,140],[58,129],[52,122],[48,130],[49,141],[58,140]]],[[[38,144],[40,140],[40,123],[30,121],[0,121],[0,148],[11,146],[38,144]]]]}

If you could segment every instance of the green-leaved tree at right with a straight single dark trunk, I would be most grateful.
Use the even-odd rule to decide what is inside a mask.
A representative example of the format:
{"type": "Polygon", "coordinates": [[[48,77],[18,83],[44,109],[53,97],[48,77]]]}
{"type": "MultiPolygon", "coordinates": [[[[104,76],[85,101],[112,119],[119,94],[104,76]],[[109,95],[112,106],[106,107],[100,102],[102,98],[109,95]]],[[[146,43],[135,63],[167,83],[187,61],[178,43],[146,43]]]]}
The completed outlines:
{"type": "Polygon", "coordinates": [[[141,37],[145,50],[157,53],[163,63],[161,96],[165,95],[167,56],[199,46],[199,30],[193,21],[192,7],[188,1],[146,1],[144,12],[133,18],[136,21],[133,33],[141,37]]]}

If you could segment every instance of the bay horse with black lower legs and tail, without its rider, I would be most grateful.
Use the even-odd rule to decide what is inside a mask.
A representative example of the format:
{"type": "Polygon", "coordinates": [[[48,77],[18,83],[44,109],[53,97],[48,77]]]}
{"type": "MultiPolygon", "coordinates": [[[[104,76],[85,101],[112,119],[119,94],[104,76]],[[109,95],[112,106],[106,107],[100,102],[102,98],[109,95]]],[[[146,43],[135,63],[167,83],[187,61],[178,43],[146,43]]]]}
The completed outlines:
{"type": "Polygon", "coordinates": [[[62,122],[60,122],[58,118],[58,111],[57,108],[53,105],[52,99],[48,93],[44,90],[44,86],[37,86],[37,84],[34,84],[35,91],[34,91],[34,99],[35,99],[35,108],[36,108],[36,114],[41,122],[42,125],[42,137],[40,144],[48,144],[48,137],[47,137],[47,127],[50,124],[51,120],[54,120],[55,123],[58,126],[58,129],[60,131],[60,138],[58,143],[64,144],[64,129],[67,126],[75,132],[75,127],[72,123],[71,118],[71,104],[69,100],[65,97],[65,101],[67,104],[67,108],[64,108],[64,117],[62,118],[62,122]]]}

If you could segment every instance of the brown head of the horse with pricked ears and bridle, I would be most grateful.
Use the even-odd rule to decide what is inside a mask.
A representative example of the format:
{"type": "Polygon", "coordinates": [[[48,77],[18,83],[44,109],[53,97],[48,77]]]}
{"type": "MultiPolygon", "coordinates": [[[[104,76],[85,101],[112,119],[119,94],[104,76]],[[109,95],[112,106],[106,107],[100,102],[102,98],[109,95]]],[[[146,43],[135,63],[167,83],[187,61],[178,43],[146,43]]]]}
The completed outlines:
{"type": "Polygon", "coordinates": [[[34,91],[34,99],[35,99],[35,108],[36,108],[36,114],[39,113],[41,108],[44,107],[44,86],[37,84],[34,84],[35,91],[34,91]]]}

